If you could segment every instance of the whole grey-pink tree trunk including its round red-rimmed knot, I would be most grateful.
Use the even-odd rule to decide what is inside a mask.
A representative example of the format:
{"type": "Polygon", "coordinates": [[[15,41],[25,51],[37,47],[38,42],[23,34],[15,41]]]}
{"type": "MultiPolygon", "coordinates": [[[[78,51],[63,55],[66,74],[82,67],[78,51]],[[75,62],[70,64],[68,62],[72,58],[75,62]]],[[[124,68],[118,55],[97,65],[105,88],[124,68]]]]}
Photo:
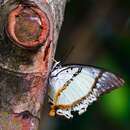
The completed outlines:
{"type": "Polygon", "coordinates": [[[0,130],[38,129],[65,5],[0,1],[0,130]]]}

